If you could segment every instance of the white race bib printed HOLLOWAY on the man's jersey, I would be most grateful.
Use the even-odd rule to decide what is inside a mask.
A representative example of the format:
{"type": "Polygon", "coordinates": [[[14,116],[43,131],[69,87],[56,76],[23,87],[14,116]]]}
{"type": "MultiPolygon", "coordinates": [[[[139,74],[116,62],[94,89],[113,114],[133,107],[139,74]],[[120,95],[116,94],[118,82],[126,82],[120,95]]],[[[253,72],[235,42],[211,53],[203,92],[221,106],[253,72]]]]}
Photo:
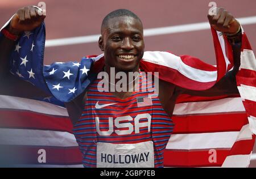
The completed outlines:
{"type": "Polygon", "coordinates": [[[152,141],[135,144],[97,143],[99,168],[154,168],[152,141]]]}

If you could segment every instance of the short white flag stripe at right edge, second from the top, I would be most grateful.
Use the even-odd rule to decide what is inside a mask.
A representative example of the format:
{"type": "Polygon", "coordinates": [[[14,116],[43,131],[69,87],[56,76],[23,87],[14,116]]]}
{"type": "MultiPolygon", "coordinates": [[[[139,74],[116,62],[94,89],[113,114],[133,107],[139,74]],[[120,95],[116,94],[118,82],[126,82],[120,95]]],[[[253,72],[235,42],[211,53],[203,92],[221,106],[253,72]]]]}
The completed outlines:
{"type": "Polygon", "coordinates": [[[256,88],[253,86],[247,86],[241,84],[237,87],[242,99],[255,101],[256,102],[256,88]]]}

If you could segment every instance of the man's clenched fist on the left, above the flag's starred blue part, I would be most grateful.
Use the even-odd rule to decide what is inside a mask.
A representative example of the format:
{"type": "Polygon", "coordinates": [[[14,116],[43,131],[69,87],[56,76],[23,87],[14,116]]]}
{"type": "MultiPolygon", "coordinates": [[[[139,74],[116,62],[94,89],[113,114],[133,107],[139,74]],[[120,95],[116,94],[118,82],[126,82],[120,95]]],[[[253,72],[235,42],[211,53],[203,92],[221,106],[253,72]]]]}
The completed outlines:
{"type": "Polygon", "coordinates": [[[38,13],[38,11],[40,10],[33,6],[20,8],[13,19],[11,19],[11,23],[8,27],[9,32],[14,35],[20,35],[24,31],[32,31],[38,27],[43,22],[44,18],[46,18],[45,15],[38,13]]]}

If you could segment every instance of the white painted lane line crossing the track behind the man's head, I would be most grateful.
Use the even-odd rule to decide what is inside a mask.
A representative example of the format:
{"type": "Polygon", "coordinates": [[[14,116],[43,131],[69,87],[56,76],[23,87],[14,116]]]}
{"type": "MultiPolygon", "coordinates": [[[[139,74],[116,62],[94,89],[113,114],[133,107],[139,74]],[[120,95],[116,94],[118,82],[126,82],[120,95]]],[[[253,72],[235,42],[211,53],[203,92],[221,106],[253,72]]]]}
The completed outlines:
{"type": "MultiPolygon", "coordinates": [[[[256,16],[238,18],[238,20],[242,25],[255,24],[256,16]]],[[[181,33],[181,32],[200,31],[200,30],[205,30],[209,28],[210,28],[210,25],[208,22],[175,25],[175,26],[169,26],[169,27],[149,28],[149,29],[144,29],[144,37],[166,35],[166,34],[172,34],[172,33],[181,33]]],[[[80,37],[69,37],[69,38],[62,38],[62,39],[52,39],[52,40],[46,41],[46,47],[97,42],[98,37],[100,37],[100,34],[90,35],[90,36],[80,36],[80,37]]]]}

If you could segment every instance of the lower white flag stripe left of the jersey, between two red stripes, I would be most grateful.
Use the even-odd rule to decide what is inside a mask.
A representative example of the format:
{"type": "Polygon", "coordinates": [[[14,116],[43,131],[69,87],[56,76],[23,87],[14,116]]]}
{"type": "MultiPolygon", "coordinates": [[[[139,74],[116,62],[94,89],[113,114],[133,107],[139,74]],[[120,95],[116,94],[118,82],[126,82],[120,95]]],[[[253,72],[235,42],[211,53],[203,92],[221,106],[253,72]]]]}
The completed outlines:
{"type": "Polygon", "coordinates": [[[78,146],[75,136],[68,132],[0,128],[0,144],[26,146],[78,146]]]}

